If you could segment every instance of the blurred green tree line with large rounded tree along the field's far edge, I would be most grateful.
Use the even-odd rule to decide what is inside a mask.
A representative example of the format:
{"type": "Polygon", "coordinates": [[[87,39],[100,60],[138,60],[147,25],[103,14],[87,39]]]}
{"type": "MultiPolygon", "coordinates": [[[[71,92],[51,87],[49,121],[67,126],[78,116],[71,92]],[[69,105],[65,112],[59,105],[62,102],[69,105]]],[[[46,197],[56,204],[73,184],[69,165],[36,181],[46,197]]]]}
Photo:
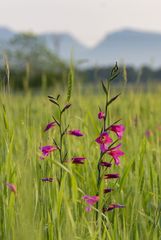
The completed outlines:
{"type": "MultiPolygon", "coordinates": [[[[13,89],[50,87],[67,81],[69,64],[61,60],[32,33],[14,36],[8,43],[4,56],[4,59],[0,58],[1,85],[7,84],[8,78],[13,89]]],[[[83,83],[97,83],[107,78],[112,67],[75,69],[76,77],[83,83]]],[[[122,79],[129,83],[143,84],[161,81],[161,68],[119,66],[119,69],[118,82],[122,79]]]]}

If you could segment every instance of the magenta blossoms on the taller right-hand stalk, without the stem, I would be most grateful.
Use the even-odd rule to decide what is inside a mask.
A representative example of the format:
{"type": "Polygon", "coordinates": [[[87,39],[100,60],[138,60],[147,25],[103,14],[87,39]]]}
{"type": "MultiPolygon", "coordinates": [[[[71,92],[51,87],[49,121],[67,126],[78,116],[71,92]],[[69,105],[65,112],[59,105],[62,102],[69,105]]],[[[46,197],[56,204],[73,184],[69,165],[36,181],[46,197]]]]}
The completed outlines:
{"type": "MultiPolygon", "coordinates": [[[[105,119],[105,113],[104,112],[99,112],[98,113],[98,119],[105,119]]],[[[102,157],[104,155],[107,155],[107,156],[110,156],[115,165],[119,165],[120,164],[120,157],[124,155],[124,152],[121,150],[121,143],[119,143],[118,145],[116,146],[113,146],[115,142],[117,141],[113,141],[111,136],[110,136],[110,131],[113,131],[116,136],[117,136],[117,140],[121,140],[121,138],[123,137],[123,133],[125,131],[125,127],[124,125],[122,124],[113,124],[111,125],[109,128],[107,128],[105,131],[103,131],[99,137],[96,138],[96,143],[99,144],[100,146],[100,152],[101,152],[101,158],[100,158],[100,161],[99,161],[99,165],[101,167],[104,167],[104,179],[118,179],[120,176],[118,173],[106,173],[106,170],[111,168],[112,166],[112,162],[107,162],[107,161],[102,161],[102,157]]],[[[111,189],[111,188],[106,188],[104,189],[104,194],[106,193],[110,193],[112,192],[114,189],[111,189]]],[[[85,200],[85,202],[88,204],[88,206],[86,207],[86,211],[89,212],[91,211],[91,207],[98,203],[99,201],[99,196],[96,195],[96,196],[89,196],[89,195],[85,195],[83,196],[82,198],[83,200],[85,200]]],[[[123,205],[120,205],[120,204],[110,204],[108,207],[103,207],[103,212],[105,211],[111,211],[115,208],[123,208],[124,206],[123,205]]]]}

